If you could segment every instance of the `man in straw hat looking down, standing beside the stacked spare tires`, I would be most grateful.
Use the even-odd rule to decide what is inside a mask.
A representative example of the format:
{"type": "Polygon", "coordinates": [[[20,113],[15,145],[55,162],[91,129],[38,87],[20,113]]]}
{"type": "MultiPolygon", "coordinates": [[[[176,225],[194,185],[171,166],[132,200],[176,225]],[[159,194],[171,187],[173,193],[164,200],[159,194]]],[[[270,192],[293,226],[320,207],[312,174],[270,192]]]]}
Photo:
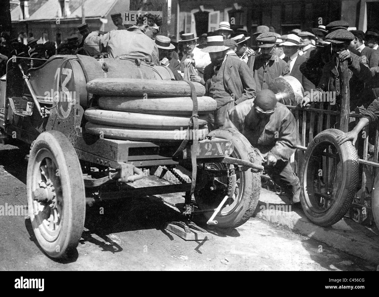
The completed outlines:
{"type": "Polygon", "coordinates": [[[207,47],[201,49],[210,55],[211,63],[204,69],[205,95],[217,102],[217,110],[208,114],[210,131],[224,125],[226,113],[235,104],[255,96],[255,81],[243,61],[227,55],[231,49],[224,46],[222,36],[207,37],[207,47]]]}

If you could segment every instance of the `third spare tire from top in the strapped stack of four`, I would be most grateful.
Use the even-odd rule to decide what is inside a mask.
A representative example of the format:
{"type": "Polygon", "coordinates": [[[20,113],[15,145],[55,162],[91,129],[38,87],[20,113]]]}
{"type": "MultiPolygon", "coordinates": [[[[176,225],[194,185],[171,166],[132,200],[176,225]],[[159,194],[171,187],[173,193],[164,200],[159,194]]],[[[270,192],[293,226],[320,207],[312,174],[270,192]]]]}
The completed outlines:
{"type": "MultiPolygon", "coordinates": [[[[144,129],[177,129],[188,125],[189,118],[169,115],[139,114],[135,112],[106,111],[99,107],[90,107],[84,112],[91,123],[144,129]]],[[[199,126],[207,121],[199,119],[199,126]]]]}

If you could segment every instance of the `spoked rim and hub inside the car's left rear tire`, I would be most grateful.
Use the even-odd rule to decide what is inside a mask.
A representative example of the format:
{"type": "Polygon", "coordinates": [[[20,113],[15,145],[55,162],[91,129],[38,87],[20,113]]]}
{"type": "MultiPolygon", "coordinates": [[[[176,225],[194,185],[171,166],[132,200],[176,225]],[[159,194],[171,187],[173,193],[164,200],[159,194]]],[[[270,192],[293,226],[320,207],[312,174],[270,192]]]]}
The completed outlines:
{"type": "Polygon", "coordinates": [[[32,206],[41,235],[49,242],[59,236],[63,222],[63,193],[57,170],[56,160],[50,150],[39,150],[33,164],[31,191],[36,193],[36,190],[44,189],[49,194],[45,201],[33,200],[32,206]]]}

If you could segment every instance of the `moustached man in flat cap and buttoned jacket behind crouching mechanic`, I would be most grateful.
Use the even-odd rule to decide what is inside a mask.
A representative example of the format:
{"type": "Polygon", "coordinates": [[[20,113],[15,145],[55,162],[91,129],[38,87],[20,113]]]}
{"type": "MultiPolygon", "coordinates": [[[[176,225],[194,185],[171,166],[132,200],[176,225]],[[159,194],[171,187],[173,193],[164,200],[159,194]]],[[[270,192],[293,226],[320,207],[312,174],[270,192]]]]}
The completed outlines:
{"type": "Polygon", "coordinates": [[[276,36],[272,32],[262,33],[257,37],[261,54],[255,57],[253,75],[257,91],[265,90],[273,79],[290,73],[286,62],[274,55],[276,36]]]}

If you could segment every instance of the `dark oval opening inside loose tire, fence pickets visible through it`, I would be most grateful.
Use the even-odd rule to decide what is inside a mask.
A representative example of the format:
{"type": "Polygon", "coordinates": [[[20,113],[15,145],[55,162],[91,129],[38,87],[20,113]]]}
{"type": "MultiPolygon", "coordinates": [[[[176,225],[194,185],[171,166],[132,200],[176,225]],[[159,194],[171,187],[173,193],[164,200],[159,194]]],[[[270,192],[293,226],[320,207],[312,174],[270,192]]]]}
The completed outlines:
{"type": "Polygon", "coordinates": [[[316,213],[325,213],[334,205],[336,194],[342,186],[343,164],[339,155],[337,147],[329,141],[324,141],[316,145],[309,159],[305,179],[305,202],[316,213]],[[326,152],[335,155],[335,158],[323,156],[322,153],[326,152]],[[322,176],[319,176],[319,169],[322,169],[322,176]]]}

